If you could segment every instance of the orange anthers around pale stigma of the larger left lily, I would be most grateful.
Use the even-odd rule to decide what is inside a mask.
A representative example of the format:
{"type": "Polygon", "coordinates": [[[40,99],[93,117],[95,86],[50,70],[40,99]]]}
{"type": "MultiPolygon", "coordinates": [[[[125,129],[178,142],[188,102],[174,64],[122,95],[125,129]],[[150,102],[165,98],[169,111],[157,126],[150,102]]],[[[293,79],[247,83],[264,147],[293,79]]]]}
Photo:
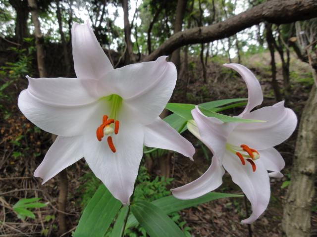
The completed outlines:
{"type": "MultiPolygon", "coordinates": [[[[108,119],[107,115],[103,116],[103,123],[97,128],[96,135],[99,142],[103,139],[104,135],[108,136],[110,134],[118,134],[119,132],[119,121],[114,119],[108,119]],[[113,129],[114,126],[114,129],[113,129]]],[[[112,142],[111,136],[107,137],[107,142],[110,150],[112,152],[115,152],[115,147],[112,142]]]]}

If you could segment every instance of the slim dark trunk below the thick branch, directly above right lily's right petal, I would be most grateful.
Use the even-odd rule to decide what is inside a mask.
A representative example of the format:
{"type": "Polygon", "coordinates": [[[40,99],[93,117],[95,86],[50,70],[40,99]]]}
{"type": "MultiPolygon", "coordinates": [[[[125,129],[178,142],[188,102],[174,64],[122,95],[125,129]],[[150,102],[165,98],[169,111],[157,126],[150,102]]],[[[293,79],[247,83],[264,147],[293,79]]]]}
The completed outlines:
{"type": "Polygon", "coordinates": [[[271,71],[272,71],[272,87],[273,87],[273,91],[274,91],[274,95],[275,95],[275,99],[277,101],[281,101],[282,100],[282,95],[280,92],[280,88],[278,86],[277,80],[276,80],[276,65],[275,65],[275,55],[274,55],[274,38],[272,35],[272,24],[266,24],[265,25],[265,29],[266,29],[266,42],[267,42],[267,46],[271,55],[271,71]]]}

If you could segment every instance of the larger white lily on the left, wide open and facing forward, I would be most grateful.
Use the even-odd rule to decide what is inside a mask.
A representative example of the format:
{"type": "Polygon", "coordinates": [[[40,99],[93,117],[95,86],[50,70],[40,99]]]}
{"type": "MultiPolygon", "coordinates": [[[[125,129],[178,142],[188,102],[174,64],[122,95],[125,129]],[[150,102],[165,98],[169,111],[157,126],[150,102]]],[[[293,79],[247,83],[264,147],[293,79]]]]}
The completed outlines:
{"type": "Polygon", "coordinates": [[[34,176],[47,182],[85,157],[113,196],[129,204],[143,144],[192,158],[193,145],[159,118],[177,71],[166,56],[113,69],[89,24],[72,27],[77,78],[30,78],[18,106],[32,123],[58,135],[34,176]]]}

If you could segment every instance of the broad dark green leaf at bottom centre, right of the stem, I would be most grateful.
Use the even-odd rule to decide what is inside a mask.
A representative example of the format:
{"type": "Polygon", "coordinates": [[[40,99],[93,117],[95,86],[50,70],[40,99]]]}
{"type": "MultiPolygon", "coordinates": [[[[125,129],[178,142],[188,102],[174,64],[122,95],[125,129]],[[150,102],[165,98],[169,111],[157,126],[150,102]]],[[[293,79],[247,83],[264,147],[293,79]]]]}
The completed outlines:
{"type": "Polygon", "coordinates": [[[131,205],[131,211],[151,237],[184,237],[175,222],[150,202],[138,201],[131,205]]]}

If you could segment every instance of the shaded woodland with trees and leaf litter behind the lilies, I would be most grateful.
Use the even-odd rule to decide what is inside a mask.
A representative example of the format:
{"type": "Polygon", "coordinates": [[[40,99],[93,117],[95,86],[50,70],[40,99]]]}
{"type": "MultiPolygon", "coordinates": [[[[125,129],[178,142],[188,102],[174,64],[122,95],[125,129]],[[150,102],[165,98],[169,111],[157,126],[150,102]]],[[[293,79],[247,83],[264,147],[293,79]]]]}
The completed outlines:
{"type": "MultiPolygon", "coordinates": [[[[271,179],[270,204],[259,220],[241,225],[250,207],[243,198],[224,198],[173,213],[182,230],[189,236],[317,236],[316,17],[316,0],[0,0],[0,236],[71,236],[100,184],[82,159],[41,186],[33,172],[52,135],[17,108],[26,75],[75,77],[71,26],[86,19],[114,67],[170,55],[178,70],[173,102],[246,97],[239,75],[222,66],[237,62],[259,79],[263,106],[285,100],[300,119],[277,147],[284,177],[271,179]],[[47,205],[23,220],[13,206],[32,197],[47,205]]],[[[206,171],[211,152],[184,136],[196,147],[195,162],[170,151],[145,154],[135,199],[169,195],[206,171]]],[[[229,175],[224,179],[217,191],[241,193],[229,175]]],[[[138,227],[126,236],[146,234],[138,227]]]]}

